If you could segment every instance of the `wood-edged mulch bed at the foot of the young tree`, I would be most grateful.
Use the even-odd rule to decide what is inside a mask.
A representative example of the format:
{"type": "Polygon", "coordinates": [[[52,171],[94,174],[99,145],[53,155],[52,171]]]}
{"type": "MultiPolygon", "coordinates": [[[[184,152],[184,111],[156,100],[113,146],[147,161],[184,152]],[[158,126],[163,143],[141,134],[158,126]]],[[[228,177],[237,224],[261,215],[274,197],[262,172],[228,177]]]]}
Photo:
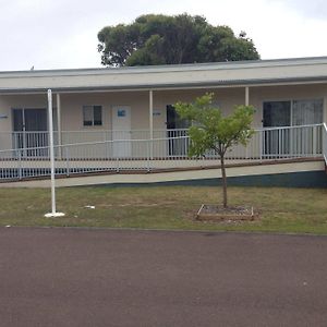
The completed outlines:
{"type": "Polygon", "coordinates": [[[197,220],[210,220],[210,221],[221,221],[221,220],[254,220],[258,217],[253,207],[247,206],[233,206],[223,208],[218,205],[202,205],[199,208],[196,219],[197,220]]]}

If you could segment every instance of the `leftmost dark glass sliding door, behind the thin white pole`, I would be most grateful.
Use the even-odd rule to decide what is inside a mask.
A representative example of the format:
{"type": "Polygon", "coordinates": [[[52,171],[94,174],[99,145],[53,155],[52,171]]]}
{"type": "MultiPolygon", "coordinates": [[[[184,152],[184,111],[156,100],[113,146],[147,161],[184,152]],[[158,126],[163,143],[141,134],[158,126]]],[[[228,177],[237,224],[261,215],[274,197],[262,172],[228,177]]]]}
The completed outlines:
{"type": "Polygon", "coordinates": [[[45,156],[48,146],[47,110],[46,109],[13,109],[13,145],[24,148],[25,156],[45,156]]]}

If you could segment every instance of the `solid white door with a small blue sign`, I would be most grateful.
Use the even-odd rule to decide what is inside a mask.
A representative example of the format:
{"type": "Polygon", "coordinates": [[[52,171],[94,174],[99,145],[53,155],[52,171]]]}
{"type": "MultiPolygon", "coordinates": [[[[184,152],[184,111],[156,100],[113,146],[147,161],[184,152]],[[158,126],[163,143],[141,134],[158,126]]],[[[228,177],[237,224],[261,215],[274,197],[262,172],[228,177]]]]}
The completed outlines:
{"type": "Polygon", "coordinates": [[[112,141],[113,157],[130,157],[131,146],[131,108],[126,106],[112,107],[112,141]]]}

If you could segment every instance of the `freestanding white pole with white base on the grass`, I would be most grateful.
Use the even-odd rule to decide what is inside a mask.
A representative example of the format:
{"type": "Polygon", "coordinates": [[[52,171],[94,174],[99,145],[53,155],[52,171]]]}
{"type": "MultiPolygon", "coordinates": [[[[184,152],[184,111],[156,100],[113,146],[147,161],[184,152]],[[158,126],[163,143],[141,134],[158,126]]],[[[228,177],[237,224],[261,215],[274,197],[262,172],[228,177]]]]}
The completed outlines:
{"type": "Polygon", "coordinates": [[[62,217],[64,214],[56,211],[56,184],[55,184],[55,149],[53,149],[53,118],[52,118],[52,92],[48,89],[48,119],[49,119],[49,141],[50,141],[50,166],[51,166],[51,213],[45,217],[62,217]]]}

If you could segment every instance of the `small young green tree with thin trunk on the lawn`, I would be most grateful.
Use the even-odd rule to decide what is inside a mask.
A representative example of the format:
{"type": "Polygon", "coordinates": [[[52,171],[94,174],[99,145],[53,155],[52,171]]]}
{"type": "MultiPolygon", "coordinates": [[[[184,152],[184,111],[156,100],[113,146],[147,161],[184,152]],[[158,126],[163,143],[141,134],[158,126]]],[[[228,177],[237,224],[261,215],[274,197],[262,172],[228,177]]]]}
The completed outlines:
{"type": "Polygon", "coordinates": [[[205,94],[195,102],[178,102],[175,110],[182,119],[189,119],[193,125],[189,130],[191,138],[189,156],[205,156],[214,149],[220,157],[222,177],[222,205],[227,208],[227,175],[225,155],[238,144],[246,145],[254,131],[251,129],[254,108],[235,106],[233,112],[223,117],[220,109],[213,106],[214,94],[205,94]]]}

